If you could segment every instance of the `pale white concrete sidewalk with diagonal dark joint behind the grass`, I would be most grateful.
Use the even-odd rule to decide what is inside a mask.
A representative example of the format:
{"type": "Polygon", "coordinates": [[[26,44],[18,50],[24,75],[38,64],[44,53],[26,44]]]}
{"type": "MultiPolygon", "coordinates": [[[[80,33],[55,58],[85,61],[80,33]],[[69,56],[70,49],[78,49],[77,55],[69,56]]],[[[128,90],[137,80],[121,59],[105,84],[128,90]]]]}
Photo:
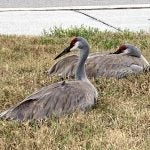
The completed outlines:
{"type": "MultiPolygon", "coordinates": [[[[150,9],[82,10],[122,30],[150,32],[150,9]]],[[[81,25],[116,31],[74,11],[0,12],[0,34],[40,35],[55,26],[69,28],[81,25]]]]}

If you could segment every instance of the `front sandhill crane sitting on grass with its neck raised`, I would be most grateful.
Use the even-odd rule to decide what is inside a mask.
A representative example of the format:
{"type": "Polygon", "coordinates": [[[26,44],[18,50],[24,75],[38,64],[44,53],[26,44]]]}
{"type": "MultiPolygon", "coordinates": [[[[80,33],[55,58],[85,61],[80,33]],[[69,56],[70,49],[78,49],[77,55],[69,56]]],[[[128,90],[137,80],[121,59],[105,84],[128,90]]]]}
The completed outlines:
{"type": "Polygon", "coordinates": [[[56,59],[75,49],[80,50],[75,81],[63,81],[43,87],[16,106],[2,112],[0,118],[19,121],[46,119],[52,115],[71,113],[76,109],[85,111],[95,105],[97,91],[85,72],[85,61],[89,54],[88,42],[82,37],[74,38],[70,46],[56,59]]]}

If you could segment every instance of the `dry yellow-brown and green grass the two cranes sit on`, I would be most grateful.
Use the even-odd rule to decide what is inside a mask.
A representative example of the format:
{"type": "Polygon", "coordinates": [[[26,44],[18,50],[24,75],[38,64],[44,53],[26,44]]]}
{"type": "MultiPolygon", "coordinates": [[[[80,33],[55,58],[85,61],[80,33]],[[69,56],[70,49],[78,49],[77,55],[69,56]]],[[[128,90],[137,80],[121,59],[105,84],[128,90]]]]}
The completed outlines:
{"type": "MultiPolygon", "coordinates": [[[[139,47],[150,61],[150,34],[112,33],[93,28],[54,28],[42,36],[0,35],[0,110],[35,90],[57,82],[45,73],[53,58],[74,36],[83,36],[91,51],[114,51],[121,43],[139,47]]],[[[0,120],[0,149],[148,150],[150,147],[150,73],[126,79],[97,78],[98,104],[45,122],[0,120]]]]}

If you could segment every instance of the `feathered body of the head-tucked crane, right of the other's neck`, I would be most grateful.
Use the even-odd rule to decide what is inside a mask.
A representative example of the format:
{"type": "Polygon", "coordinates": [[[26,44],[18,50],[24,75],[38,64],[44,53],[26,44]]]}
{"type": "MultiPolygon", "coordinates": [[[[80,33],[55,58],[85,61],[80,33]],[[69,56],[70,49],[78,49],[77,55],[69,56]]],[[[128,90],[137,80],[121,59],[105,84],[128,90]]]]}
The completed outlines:
{"type": "Polygon", "coordinates": [[[143,70],[144,62],[140,58],[111,54],[96,56],[87,60],[86,71],[89,77],[114,76],[122,78],[132,73],[139,73],[143,70]]]}

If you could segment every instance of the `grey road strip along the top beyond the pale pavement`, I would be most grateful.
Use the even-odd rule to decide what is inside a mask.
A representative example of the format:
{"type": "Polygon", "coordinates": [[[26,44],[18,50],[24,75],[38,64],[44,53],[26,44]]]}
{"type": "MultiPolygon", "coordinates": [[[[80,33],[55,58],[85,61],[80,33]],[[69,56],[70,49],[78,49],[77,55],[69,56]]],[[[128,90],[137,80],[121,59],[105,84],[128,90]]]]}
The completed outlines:
{"type": "Polygon", "coordinates": [[[150,4],[150,0],[0,0],[0,8],[150,4]]]}

